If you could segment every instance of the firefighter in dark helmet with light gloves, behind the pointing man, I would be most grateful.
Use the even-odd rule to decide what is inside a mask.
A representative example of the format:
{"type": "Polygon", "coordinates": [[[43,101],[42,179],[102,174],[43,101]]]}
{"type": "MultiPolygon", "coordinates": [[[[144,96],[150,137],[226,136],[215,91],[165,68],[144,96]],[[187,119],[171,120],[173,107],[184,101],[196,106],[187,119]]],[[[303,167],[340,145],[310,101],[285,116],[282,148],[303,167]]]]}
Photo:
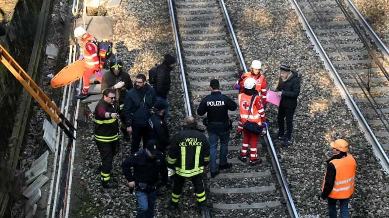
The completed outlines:
{"type": "Polygon", "coordinates": [[[110,71],[104,73],[102,83],[101,83],[101,92],[106,88],[111,88],[116,91],[116,102],[119,104],[120,108],[120,130],[123,132],[125,140],[130,140],[130,134],[127,132],[127,127],[124,123],[124,99],[126,98],[126,93],[131,88],[133,88],[130,75],[123,71],[123,62],[117,57],[114,57],[110,62],[110,71]]]}

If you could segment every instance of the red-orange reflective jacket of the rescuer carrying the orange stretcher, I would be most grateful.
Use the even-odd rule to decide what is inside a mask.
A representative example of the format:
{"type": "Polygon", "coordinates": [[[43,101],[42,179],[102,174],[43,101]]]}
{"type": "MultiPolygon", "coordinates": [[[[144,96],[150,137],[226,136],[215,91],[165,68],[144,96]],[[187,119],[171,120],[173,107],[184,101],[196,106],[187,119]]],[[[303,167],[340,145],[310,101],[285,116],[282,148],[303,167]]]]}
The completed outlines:
{"type": "Polygon", "coordinates": [[[98,42],[95,37],[87,33],[86,38],[82,39],[84,42],[84,61],[85,67],[89,69],[100,69],[100,62],[98,59],[98,42]]]}

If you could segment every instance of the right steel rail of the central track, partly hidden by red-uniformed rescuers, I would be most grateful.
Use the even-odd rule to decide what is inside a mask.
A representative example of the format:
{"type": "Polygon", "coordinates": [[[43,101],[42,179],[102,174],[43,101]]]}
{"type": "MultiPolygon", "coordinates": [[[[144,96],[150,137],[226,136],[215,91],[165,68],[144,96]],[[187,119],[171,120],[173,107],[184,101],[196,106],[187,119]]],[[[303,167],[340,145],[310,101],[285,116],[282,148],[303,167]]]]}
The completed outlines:
{"type": "MultiPolygon", "coordinates": [[[[238,53],[240,66],[241,67],[243,66],[244,71],[247,72],[246,64],[245,64],[242,52],[241,52],[240,47],[239,47],[237,36],[235,35],[235,31],[234,31],[233,26],[231,24],[230,16],[228,15],[228,11],[227,11],[226,5],[224,3],[224,0],[220,0],[220,3],[222,6],[222,9],[223,9],[224,17],[226,18],[226,21],[228,24],[228,29],[229,29],[231,37],[233,39],[235,50],[238,53]]],[[[290,192],[289,187],[288,187],[287,182],[286,182],[286,178],[285,178],[284,174],[282,173],[281,164],[280,164],[279,159],[277,157],[277,152],[274,149],[273,141],[272,141],[272,138],[270,137],[269,131],[266,133],[266,137],[264,137],[264,139],[265,139],[266,144],[268,145],[268,151],[270,153],[270,156],[272,157],[273,168],[276,171],[277,180],[280,183],[282,195],[284,196],[284,199],[286,200],[289,215],[291,217],[298,218],[299,216],[298,216],[298,213],[296,210],[296,206],[294,205],[291,192],[290,192]]]]}

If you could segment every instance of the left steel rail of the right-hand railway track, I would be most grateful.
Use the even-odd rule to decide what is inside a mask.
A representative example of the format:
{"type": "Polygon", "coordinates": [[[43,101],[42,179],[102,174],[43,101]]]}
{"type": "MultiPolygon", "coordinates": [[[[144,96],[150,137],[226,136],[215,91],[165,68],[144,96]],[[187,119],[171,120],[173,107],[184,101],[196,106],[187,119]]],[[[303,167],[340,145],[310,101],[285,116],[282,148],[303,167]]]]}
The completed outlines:
{"type": "Polygon", "coordinates": [[[319,53],[322,61],[324,62],[324,66],[326,66],[327,70],[331,74],[331,77],[333,78],[336,87],[338,87],[340,94],[345,99],[347,106],[350,108],[352,114],[357,119],[359,126],[361,127],[361,129],[365,133],[366,139],[372,145],[373,152],[380,160],[382,168],[384,169],[384,171],[386,173],[389,173],[389,158],[385,154],[384,149],[382,149],[381,144],[378,142],[378,140],[375,137],[370,126],[367,124],[366,119],[364,119],[364,117],[363,117],[361,111],[359,110],[358,106],[356,105],[354,99],[352,98],[349,91],[347,90],[347,87],[344,85],[338,72],[336,71],[335,67],[333,66],[332,62],[330,61],[327,53],[324,51],[324,48],[322,47],[321,43],[319,42],[314,31],[312,30],[310,24],[307,21],[307,18],[305,17],[305,15],[302,12],[300,6],[296,2],[296,0],[289,0],[289,2],[291,3],[292,7],[296,11],[297,16],[298,16],[303,28],[305,29],[305,32],[307,33],[308,38],[310,38],[312,45],[314,45],[315,50],[319,53]]]}

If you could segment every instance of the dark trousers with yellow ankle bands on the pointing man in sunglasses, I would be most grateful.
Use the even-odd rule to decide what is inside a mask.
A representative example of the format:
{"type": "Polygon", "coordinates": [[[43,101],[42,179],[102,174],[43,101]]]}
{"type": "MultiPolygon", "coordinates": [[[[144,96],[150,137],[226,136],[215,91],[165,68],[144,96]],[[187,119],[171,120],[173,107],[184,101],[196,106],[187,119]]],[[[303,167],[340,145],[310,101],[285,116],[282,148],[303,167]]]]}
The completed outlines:
{"type": "Polygon", "coordinates": [[[112,168],[112,161],[114,156],[119,151],[120,143],[119,140],[112,142],[100,142],[98,140],[95,141],[101,156],[101,180],[108,181],[111,178],[110,173],[112,168]]]}

